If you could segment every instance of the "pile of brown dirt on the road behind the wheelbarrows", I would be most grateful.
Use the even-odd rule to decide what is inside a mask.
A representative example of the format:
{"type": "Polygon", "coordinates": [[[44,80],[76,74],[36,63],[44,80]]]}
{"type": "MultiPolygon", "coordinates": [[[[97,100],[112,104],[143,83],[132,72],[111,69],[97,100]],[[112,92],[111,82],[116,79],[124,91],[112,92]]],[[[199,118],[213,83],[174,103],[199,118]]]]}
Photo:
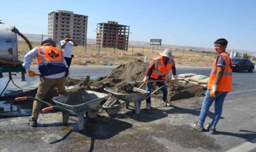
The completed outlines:
{"type": "MultiPolygon", "coordinates": [[[[104,88],[115,88],[119,93],[131,93],[132,85],[130,85],[130,82],[142,80],[148,66],[148,63],[140,60],[134,60],[128,64],[122,64],[100,80],[90,81],[88,85],[89,88],[87,89],[104,92],[104,88]]],[[[166,82],[171,83],[168,85],[168,98],[170,100],[204,96],[205,90],[201,86],[191,83],[172,83],[170,79],[171,78],[168,77],[166,80],[166,82]]],[[[135,84],[135,87],[138,87],[141,84],[142,83],[135,84]]],[[[155,85],[155,83],[152,89],[157,89],[157,85],[155,85]]],[[[159,97],[162,95],[162,92],[158,91],[155,94],[159,97]]]]}

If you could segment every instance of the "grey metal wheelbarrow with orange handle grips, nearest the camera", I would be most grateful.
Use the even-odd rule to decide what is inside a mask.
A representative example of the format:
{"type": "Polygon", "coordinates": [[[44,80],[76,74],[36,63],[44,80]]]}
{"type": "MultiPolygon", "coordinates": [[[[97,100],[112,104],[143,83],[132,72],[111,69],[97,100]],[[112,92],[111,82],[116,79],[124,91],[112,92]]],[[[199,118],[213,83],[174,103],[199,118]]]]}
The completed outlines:
{"type": "Polygon", "coordinates": [[[52,101],[54,101],[55,106],[34,97],[18,97],[15,98],[15,100],[32,99],[36,100],[37,102],[44,103],[49,107],[42,109],[43,112],[52,109],[60,109],[63,112],[63,123],[68,122],[69,114],[76,115],[78,117],[78,128],[79,130],[83,130],[84,115],[89,118],[96,117],[99,113],[99,109],[101,109],[99,104],[107,96],[107,94],[103,94],[101,92],[80,90],[53,97],[52,101]],[[66,113],[68,113],[68,117],[64,116],[66,113]]]}

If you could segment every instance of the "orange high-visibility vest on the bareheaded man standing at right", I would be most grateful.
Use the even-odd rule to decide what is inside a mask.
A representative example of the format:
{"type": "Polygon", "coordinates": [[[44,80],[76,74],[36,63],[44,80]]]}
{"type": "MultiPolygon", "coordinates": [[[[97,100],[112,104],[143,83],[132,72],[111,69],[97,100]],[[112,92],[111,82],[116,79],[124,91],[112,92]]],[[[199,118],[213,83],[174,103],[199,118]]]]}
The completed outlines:
{"type": "Polygon", "coordinates": [[[217,56],[214,61],[213,69],[210,74],[209,81],[207,83],[207,89],[212,89],[213,83],[215,81],[216,73],[217,73],[217,66],[216,62],[219,56],[224,57],[226,62],[224,73],[222,75],[221,81],[219,81],[218,88],[216,91],[232,91],[232,61],[230,60],[229,55],[227,52],[223,52],[217,56]]]}

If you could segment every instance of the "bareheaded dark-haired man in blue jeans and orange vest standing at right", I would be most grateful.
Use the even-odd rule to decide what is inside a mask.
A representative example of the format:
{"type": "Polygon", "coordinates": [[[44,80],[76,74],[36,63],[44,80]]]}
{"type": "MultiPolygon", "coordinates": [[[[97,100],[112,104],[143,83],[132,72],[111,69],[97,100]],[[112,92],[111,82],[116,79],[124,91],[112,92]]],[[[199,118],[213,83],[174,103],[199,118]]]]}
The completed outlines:
{"type": "Polygon", "coordinates": [[[190,126],[194,130],[204,131],[204,122],[207,117],[210,106],[215,101],[215,114],[212,123],[205,128],[209,133],[216,133],[216,125],[222,114],[222,106],[224,99],[229,91],[232,91],[232,61],[226,52],[227,40],[224,38],[215,41],[215,50],[218,54],[213,65],[212,72],[207,84],[204,102],[200,112],[199,120],[191,123],[190,126]]]}

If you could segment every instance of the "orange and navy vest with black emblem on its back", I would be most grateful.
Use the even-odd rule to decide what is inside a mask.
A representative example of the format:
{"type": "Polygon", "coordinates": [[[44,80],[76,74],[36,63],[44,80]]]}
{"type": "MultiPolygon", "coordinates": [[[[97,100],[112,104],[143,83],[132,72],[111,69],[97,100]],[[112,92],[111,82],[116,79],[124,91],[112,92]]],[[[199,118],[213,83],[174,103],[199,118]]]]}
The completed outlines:
{"type": "Polygon", "coordinates": [[[62,50],[53,46],[37,47],[38,69],[40,77],[59,74],[66,71],[65,64],[63,63],[64,56],[62,50]]]}

